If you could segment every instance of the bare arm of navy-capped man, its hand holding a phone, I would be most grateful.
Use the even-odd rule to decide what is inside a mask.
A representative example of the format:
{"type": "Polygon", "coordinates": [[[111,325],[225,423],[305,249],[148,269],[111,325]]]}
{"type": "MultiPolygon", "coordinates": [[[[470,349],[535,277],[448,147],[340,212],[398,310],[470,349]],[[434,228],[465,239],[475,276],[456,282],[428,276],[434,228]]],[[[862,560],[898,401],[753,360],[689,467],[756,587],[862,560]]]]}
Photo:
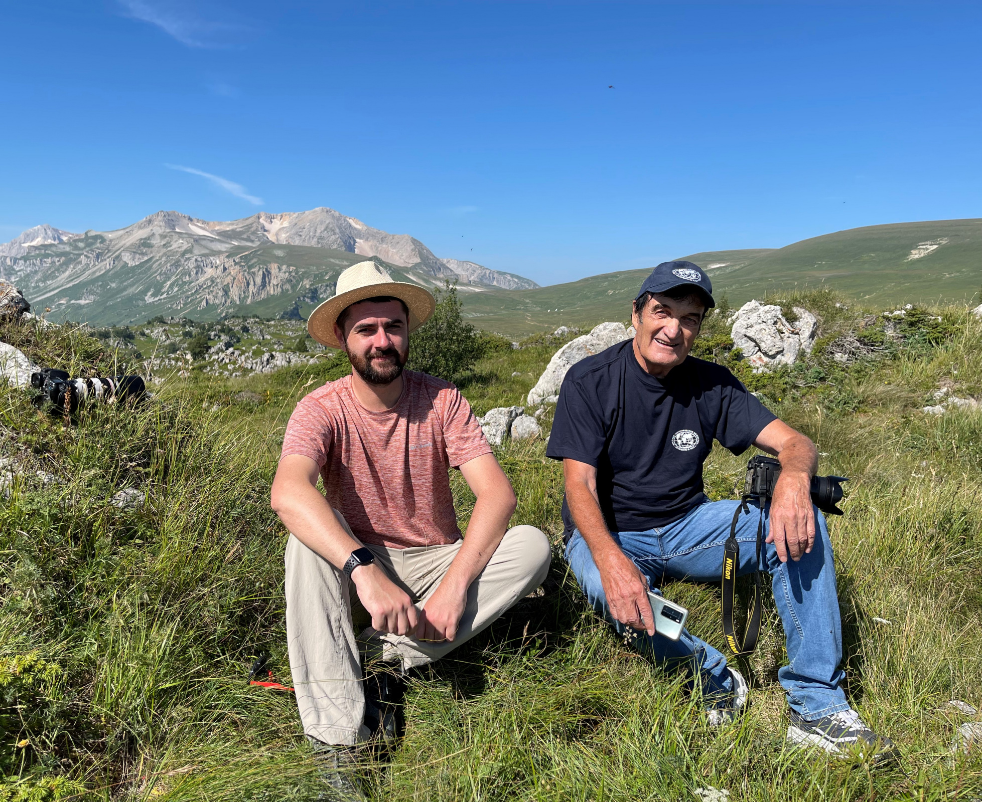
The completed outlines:
{"type": "Polygon", "coordinates": [[[655,625],[648,601],[648,583],[611,537],[604,522],[597,496],[597,469],[587,463],[565,459],[563,475],[573,523],[590,547],[611,615],[628,627],[644,629],[653,635],[655,625]]]}

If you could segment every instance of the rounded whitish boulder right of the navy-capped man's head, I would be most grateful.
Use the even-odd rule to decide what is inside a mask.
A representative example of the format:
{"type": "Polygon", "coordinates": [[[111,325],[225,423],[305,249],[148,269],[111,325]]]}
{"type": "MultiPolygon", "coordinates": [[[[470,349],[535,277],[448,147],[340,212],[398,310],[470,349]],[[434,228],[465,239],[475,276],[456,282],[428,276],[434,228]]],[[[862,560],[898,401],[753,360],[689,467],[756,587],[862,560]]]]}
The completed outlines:
{"type": "Polygon", "coordinates": [[[780,306],[747,301],[733,318],[731,336],[743,357],[758,372],[791,365],[801,351],[810,352],[818,333],[818,319],[808,310],[794,307],[791,324],[780,306]]]}

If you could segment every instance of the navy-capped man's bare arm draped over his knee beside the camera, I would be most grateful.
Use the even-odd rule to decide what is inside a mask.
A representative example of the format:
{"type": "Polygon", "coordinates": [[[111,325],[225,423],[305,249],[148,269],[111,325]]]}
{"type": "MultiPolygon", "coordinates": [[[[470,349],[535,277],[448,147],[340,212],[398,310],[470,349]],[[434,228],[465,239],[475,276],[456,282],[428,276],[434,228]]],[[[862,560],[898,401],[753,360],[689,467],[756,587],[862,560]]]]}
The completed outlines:
{"type": "Polygon", "coordinates": [[[804,434],[783,421],[772,421],[753,444],[777,455],[781,476],[771,499],[770,531],[782,563],[797,561],[815,544],[815,513],[811,506],[811,477],[818,470],[818,450],[804,434]]]}

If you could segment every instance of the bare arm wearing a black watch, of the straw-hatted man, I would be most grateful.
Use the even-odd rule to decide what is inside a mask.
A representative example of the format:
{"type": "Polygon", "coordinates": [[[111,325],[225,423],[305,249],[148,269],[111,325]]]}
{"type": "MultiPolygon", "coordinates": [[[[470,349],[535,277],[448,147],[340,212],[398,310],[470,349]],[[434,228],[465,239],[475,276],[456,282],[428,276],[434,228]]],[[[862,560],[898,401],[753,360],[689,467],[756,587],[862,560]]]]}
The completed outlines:
{"type": "MultiPolygon", "coordinates": [[[[307,548],[317,552],[339,571],[361,543],[355,540],[317,489],[317,463],[301,454],[280,460],[270,504],[280,521],[307,548]]],[[[371,614],[371,626],[380,632],[410,634],[417,614],[409,594],[377,565],[360,566],[352,572],[358,598],[371,614]]]]}

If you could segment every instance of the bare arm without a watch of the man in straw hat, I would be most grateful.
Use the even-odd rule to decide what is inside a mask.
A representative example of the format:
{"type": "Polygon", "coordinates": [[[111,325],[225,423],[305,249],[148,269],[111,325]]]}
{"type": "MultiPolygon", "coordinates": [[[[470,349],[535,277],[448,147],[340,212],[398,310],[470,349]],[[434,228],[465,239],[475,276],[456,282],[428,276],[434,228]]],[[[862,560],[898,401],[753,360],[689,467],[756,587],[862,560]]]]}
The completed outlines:
{"type": "Polygon", "coordinates": [[[465,462],[461,473],[477,500],[460,551],[423,605],[418,629],[421,640],[453,640],[457,636],[467,588],[498,548],[517,505],[512,483],[493,454],[465,462]]]}

